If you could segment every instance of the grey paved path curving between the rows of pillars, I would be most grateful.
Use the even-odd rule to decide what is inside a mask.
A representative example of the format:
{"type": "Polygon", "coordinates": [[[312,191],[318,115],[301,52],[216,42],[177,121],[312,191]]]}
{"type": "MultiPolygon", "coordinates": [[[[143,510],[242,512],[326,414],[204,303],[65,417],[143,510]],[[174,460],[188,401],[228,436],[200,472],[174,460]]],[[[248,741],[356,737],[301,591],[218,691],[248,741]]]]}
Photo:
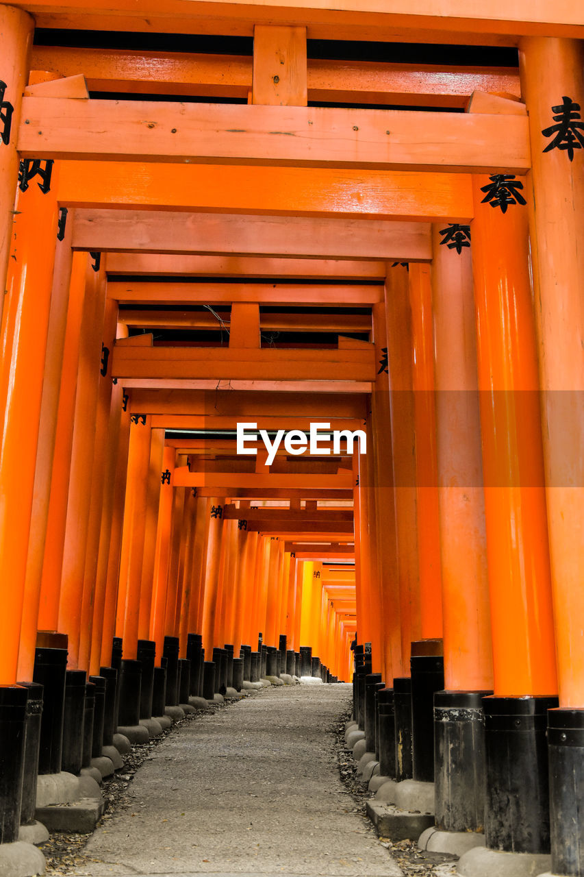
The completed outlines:
{"type": "Polygon", "coordinates": [[[76,874],[399,877],[338,776],[350,686],[264,689],[184,725],[139,768],[132,808],[76,874]]]}

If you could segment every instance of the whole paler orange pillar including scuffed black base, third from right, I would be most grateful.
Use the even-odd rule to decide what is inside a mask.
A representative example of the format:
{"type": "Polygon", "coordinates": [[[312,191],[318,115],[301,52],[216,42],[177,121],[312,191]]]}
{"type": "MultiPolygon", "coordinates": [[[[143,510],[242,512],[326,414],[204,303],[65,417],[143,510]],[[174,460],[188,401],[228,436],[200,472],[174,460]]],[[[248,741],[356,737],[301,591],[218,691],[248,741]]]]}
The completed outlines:
{"type": "Polygon", "coordinates": [[[445,691],[434,695],[436,822],[481,831],[481,697],[492,690],[481,423],[470,249],[432,231],[445,691]]]}

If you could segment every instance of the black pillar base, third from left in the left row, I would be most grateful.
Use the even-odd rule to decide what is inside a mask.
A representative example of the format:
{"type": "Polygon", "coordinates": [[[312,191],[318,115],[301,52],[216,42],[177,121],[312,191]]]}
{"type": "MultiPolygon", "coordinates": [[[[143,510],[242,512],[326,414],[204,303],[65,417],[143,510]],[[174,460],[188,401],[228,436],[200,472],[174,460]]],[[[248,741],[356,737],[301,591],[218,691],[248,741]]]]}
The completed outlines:
{"type": "Polygon", "coordinates": [[[59,774],[65,709],[67,649],[37,648],[32,679],[43,687],[39,774],[59,774]]]}

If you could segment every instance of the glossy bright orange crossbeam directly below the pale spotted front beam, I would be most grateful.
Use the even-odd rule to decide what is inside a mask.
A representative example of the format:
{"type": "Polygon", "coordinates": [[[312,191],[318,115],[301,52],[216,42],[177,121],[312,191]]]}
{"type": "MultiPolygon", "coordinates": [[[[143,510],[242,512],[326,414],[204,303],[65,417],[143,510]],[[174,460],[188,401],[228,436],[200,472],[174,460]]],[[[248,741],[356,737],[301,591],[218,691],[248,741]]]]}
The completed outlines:
{"type": "Polygon", "coordinates": [[[467,223],[470,177],[403,170],[66,161],[59,200],[69,207],[367,217],[467,223]]]}

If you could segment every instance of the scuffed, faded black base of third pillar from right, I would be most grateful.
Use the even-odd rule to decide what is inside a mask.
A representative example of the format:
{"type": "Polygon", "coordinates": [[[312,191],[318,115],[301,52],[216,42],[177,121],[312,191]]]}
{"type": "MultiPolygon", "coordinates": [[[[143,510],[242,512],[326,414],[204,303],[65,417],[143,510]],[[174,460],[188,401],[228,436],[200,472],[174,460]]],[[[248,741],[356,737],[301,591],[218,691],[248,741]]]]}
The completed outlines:
{"type": "Polygon", "coordinates": [[[484,831],[485,727],[490,691],[434,695],[434,798],[442,831],[484,831]]]}

